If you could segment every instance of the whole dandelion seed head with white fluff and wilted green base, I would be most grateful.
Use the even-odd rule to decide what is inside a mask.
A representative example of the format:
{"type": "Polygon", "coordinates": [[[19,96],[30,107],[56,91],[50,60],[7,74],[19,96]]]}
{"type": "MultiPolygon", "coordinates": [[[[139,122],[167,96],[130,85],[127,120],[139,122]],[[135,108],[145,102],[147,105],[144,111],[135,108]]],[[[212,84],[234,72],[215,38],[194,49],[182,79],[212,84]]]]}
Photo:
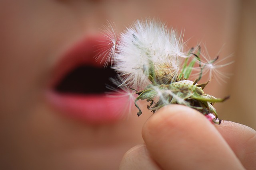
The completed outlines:
{"type": "Polygon", "coordinates": [[[118,86],[138,95],[134,99],[138,116],[142,111],[137,102],[146,100],[149,102],[148,109],[153,113],[168,104],[182,104],[207,117],[213,113],[215,118],[210,121],[220,123],[213,105],[227,97],[222,99],[205,94],[203,89],[208,82],[197,83],[202,75],[220,73],[214,68],[228,64],[217,66],[217,59],[201,61],[199,46],[186,51],[184,35],[178,35],[160,21],[137,20],[120,34],[118,42],[114,29],[106,28],[106,37],[112,42],[105,56],[106,61],[111,62],[112,68],[118,73],[121,80],[118,86]],[[200,76],[194,81],[188,80],[196,62],[200,66],[200,76]]]}

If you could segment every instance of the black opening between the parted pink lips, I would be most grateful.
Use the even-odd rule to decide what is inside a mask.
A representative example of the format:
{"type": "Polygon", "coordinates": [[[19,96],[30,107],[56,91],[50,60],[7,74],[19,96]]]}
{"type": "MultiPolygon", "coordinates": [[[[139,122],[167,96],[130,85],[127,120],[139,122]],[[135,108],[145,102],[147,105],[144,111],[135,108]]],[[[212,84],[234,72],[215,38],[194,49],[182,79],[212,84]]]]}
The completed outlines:
{"type": "Polygon", "coordinates": [[[116,77],[116,72],[110,68],[78,66],[66,74],[54,87],[56,92],[72,94],[102,94],[110,91],[106,85],[116,87],[110,77],[116,77]]]}

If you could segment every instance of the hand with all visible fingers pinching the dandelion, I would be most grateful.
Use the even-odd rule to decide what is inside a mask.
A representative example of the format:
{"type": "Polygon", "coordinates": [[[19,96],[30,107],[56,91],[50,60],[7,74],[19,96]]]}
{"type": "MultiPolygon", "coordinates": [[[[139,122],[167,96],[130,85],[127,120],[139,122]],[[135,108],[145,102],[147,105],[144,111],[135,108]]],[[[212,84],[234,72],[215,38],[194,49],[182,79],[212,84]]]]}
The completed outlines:
{"type": "Polygon", "coordinates": [[[145,143],[124,155],[120,170],[255,170],[255,131],[198,111],[166,106],[144,124],[145,143]]]}

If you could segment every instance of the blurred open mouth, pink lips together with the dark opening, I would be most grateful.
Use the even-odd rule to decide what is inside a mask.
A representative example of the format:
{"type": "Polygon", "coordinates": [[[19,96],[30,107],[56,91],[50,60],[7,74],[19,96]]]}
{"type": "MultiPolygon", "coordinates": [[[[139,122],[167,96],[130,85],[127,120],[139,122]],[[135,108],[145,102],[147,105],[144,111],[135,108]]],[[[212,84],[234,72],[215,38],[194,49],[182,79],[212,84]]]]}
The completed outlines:
{"type": "Polygon", "coordinates": [[[53,69],[46,97],[59,113],[89,123],[116,121],[123,117],[127,100],[105,95],[106,85],[116,87],[110,77],[116,72],[96,62],[98,37],[87,37],[66,52],[53,69]],[[122,115],[122,116],[121,116],[122,115]]]}

